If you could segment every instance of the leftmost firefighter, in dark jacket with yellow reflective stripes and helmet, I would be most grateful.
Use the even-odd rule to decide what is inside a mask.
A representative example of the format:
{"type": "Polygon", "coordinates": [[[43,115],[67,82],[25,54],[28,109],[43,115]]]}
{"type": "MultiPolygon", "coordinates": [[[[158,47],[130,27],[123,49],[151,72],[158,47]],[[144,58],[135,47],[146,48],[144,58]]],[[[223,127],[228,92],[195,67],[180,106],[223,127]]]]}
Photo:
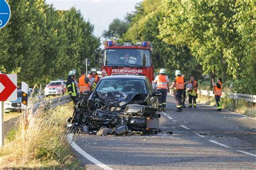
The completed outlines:
{"type": "Polygon", "coordinates": [[[72,101],[76,105],[78,103],[78,98],[77,98],[77,88],[75,84],[75,80],[76,80],[75,74],[76,73],[73,70],[69,72],[68,81],[66,82],[66,87],[68,88],[68,94],[70,95],[72,101]]]}

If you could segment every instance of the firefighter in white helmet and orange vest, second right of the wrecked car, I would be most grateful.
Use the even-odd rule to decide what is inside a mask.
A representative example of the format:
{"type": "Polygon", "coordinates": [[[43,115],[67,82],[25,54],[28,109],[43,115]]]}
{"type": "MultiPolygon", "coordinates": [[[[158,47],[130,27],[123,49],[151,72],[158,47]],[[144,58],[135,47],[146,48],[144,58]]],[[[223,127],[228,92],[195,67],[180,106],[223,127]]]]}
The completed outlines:
{"type": "Polygon", "coordinates": [[[181,76],[180,70],[176,70],[175,75],[176,77],[173,80],[172,86],[170,88],[174,87],[173,95],[176,100],[176,107],[178,109],[176,112],[182,112],[181,96],[184,90],[184,79],[181,76]]]}

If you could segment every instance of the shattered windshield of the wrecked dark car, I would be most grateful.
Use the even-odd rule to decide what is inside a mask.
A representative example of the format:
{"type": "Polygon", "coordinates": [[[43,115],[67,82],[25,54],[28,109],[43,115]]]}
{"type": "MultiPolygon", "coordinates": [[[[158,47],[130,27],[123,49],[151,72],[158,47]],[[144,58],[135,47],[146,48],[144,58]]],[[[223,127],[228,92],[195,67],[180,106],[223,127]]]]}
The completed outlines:
{"type": "Polygon", "coordinates": [[[132,79],[102,80],[96,89],[97,92],[106,93],[119,91],[120,93],[143,93],[147,94],[145,81],[132,79]]]}

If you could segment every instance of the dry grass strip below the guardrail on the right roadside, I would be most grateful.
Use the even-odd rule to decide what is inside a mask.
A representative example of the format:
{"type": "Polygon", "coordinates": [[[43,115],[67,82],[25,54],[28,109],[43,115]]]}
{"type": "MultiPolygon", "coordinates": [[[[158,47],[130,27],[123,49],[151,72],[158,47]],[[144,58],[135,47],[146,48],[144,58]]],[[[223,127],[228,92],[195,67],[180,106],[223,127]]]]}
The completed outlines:
{"type": "MultiPolygon", "coordinates": [[[[204,103],[212,106],[217,106],[214,97],[198,95],[197,102],[204,103]]],[[[250,105],[248,102],[237,100],[234,101],[230,98],[221,98],[221,103],[223,108],[226,110],[234,111],[239,114],[244,114],[246,116],[256,118],[256,108],[253,105],[250,105]]]]}

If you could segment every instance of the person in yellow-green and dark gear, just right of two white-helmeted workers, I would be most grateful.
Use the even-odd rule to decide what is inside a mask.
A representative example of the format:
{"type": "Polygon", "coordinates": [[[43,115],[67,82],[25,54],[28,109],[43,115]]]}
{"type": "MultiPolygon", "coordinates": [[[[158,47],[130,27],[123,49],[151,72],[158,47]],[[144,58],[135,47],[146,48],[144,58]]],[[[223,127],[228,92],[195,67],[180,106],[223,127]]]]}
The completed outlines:
{"type": "Polygon", "coordinates": [[[189,89],[188,94],[188,102],[190,103],[188,108],[192,108],[192,99],[193,99],[193,105],[194,108],[197,108],[197,89],[198,89],[198,83],[196,80],[194,80],[194,77],[190,77],[190,82],[192,89],[189,89]]]}

